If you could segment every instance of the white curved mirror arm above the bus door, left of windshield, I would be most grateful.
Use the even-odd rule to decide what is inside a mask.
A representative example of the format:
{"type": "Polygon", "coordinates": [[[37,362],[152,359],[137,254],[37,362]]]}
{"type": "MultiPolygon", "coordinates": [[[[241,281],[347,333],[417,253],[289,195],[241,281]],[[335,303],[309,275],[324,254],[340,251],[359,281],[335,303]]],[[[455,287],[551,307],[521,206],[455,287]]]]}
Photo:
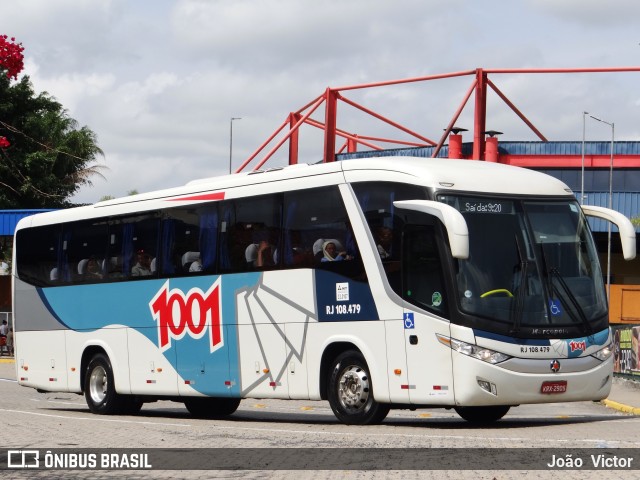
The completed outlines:
{"type": "Polygon", "coordinates": [[[415,210],[437,217],[447,230],[451,255],[460,260],[469,258],[469,229],[462,214],[455,208],[432,200],[402,200],[393,202],[396,208],[415,210]]]}

